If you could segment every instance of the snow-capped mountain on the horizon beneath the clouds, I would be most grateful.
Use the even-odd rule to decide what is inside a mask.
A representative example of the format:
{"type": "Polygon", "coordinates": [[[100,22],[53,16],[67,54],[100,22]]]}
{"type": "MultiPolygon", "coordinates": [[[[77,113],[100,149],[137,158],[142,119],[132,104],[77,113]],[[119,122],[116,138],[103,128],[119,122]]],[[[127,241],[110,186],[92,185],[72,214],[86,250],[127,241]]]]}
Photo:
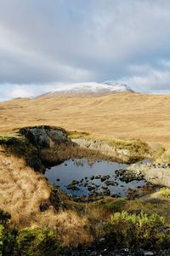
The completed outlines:
{"type": "Polygon", "coordinates": [[[43,96],[55,96],[57,94],[101,94],[101,93],[118,93],[118,92],[133,92],[127,84],[120,84],[112,81],[104,83],[76,83],[63,84],[58,89],[46,93],[43,96]]]}

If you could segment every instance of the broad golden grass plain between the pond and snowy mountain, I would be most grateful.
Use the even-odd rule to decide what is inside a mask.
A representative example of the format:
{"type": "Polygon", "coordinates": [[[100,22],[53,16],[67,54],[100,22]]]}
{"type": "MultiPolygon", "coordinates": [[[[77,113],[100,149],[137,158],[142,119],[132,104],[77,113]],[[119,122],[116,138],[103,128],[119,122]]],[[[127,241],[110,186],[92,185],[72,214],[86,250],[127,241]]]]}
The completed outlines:
{"type": "Polygon", "coordinates": [[[140,138],[170,145],[170,96],[110,94],[15,99],[0,103],[0,132],[26,125],[57,125],[94,137],[140,138]]]}

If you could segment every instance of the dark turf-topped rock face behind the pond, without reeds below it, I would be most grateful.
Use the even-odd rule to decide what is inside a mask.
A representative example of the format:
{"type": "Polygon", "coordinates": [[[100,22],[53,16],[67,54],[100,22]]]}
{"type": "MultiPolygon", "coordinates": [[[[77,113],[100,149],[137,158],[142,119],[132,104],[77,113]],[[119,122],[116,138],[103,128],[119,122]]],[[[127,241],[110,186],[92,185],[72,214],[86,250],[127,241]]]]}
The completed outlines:
{"type": "Polygon", "coordinates": [[[72,145],[71,139],[67,137],[67,132],[55,126],[39,125],[20,129],[24,135],[36,148],[54,148],[55,145],[72,145]]]}

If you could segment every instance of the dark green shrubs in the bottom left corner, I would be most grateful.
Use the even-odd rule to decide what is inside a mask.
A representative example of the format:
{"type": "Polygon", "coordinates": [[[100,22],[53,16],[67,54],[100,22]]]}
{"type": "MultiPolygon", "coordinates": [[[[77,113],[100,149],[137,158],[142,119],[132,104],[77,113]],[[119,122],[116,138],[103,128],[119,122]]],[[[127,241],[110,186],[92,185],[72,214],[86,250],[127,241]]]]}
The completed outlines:
{"type": "Polygon", "coordinates": [[[9,226],[10,214],[0,210],[0,256],[62,255],[59,237],[49,229],[16,230],[9,226]]]}

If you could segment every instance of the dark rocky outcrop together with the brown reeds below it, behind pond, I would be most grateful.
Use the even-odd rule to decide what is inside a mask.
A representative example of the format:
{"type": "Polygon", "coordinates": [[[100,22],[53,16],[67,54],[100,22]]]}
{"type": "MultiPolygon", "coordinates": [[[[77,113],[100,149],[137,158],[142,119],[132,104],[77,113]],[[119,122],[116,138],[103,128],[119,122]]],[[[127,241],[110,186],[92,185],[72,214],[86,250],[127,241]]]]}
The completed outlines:
{"type": "MultiPolygon", "coordinates": [[[[67,136],[67,132],[50,125],[30,126],[20,129],[20,134],[37,152],[37,161],[43,166],[54,166],[67,158],[67,154],[75,143],[67,136]]],[[[25,142],[26,143],[26,142],[25,142]]]]}

